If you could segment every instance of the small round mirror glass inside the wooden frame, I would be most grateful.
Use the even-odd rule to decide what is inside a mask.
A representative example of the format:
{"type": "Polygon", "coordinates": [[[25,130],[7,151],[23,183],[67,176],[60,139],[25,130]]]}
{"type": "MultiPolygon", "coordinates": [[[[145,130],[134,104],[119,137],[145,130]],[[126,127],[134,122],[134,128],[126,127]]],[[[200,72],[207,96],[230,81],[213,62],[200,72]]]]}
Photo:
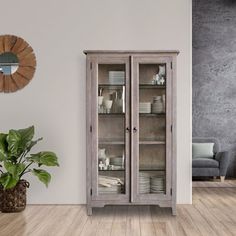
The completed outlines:
{"type": "Polygon", "coordinates": [[[0,73],[11,75],[17,71],[19,59],[12,52],[4,52],[0,55],[0,73]]]}

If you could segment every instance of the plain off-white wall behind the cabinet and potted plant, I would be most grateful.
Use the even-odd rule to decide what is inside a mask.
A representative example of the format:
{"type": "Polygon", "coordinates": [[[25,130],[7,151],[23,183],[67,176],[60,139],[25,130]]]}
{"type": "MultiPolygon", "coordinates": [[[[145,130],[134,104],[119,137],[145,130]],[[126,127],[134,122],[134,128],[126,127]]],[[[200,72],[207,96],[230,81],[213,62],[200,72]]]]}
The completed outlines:
{"type": "Polygon", "coordinates": [[[34,124],[60,168],[48,189],[30,177],[29,203],[85,203],[84,49],[178,49],[178,203],[191,202],[191,1],[7,0],[1,34],[34,48],[37,71],[23,90],[0,94],[0,130],[34,124]]]}

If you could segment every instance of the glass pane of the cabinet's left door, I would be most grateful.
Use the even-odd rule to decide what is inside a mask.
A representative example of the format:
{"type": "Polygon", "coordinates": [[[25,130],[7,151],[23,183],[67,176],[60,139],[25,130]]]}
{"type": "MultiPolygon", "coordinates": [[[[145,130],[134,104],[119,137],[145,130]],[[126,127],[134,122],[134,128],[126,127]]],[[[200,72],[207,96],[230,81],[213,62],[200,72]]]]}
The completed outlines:
{"type": "Polygon", "coordinates": [[[125,193],[125,64],[98,65],[98,193],[125,193]]]}

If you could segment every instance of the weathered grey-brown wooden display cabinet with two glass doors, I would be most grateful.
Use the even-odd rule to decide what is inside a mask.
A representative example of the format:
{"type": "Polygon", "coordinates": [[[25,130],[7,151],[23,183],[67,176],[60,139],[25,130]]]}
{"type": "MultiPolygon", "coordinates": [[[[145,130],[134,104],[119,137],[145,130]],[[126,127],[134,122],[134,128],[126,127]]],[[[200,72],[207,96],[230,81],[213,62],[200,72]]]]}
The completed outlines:
{"type": "Polygon", "coordinates": [[[85,51],[87,210],[159,205],[176,214],[177,51],[85,51]]]}

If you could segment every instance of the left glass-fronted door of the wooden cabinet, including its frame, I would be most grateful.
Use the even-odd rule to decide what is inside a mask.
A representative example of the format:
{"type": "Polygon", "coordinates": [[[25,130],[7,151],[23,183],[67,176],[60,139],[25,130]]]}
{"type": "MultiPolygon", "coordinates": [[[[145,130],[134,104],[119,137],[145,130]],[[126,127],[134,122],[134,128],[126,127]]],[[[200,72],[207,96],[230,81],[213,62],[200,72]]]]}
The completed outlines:
{"type": "Polygon", "coordinates": [[[92,188],[95,200],[127,200],[130,157],[130,80],[128,57],[94,62],[92,105],[94,141],[92,188]]]}

